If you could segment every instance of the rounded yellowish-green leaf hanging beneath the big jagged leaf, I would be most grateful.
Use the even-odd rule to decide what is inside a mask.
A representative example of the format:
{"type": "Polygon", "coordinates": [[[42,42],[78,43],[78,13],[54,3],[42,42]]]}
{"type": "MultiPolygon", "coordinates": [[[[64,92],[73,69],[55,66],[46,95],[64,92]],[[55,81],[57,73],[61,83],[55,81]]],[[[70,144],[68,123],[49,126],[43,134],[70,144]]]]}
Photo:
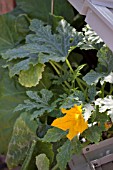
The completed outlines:
{"type": "Polygon", "coordinates": [[[44,71],[44,64],[37,64],[31,66],[29,70],[22,70],[19,74],[19,82],[25,87],[36,86],[42,78],[42,72],[44,71]]]}

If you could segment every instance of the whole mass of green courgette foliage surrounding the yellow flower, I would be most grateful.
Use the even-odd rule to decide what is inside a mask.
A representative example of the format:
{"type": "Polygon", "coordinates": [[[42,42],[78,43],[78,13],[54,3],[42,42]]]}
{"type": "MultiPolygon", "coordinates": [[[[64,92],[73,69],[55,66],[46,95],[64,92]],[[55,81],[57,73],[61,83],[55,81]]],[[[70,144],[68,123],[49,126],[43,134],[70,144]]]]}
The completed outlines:
{"type": "MultiPolygon", "coordinates": [[[[9,169],[65,170],[113,122],[113,53],[88,25],[78,25],[82,32],[70,26],[77,11],[68,1],[54,0],[53,9],[51,2],[17,0],[13,12],[0,16],[0,153],[9,169]],[[95,68],[87,55],[92,50],[95,68]],[[70,129],[51,124],[74,105],[88,128],[68,140],[70,129]]],[[[79,119],[78,112],[72,113],[79,119]]]]}

